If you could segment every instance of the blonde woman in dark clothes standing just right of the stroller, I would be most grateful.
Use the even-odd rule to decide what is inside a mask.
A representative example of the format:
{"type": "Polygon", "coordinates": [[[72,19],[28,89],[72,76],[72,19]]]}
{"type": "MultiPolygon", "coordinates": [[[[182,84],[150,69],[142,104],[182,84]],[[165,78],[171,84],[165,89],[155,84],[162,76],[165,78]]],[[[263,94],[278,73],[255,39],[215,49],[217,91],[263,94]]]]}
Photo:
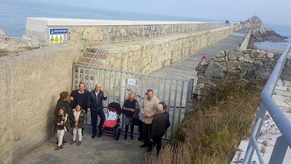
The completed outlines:
{"type": "Polygon", "coordinates": [[[135,93],[130,92],[127,96],[127,100],[124,102],[123,107],[122,107],[122,114],[125,115],[124,118],[124,125],[125,125],[125,135],[124,135],[124,140],[127,139],[127,131],[128,127],[131,125],[131,140],[134,139],[133,133],[134,133],[134,128],[135,125],[133,123],[133,115],[135,112],[135,109],[138,105],[138,101],[135,99],[135,93]]]}

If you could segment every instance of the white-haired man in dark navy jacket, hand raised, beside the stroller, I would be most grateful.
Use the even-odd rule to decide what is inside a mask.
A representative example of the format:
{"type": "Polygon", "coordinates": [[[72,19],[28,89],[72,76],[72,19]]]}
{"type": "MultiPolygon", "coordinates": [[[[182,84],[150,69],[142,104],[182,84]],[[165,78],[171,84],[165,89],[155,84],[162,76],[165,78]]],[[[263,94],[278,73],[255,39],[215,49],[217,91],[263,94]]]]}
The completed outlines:
{"type": "Polygon", "coordinates": [[[98,125],[99,134],[98,137],[102,135],[102,126],[105,121],[105,114],[103,112],[103,100],[107,100],[107,95],[105,91],[101,90],[101,85],[96,84],[95,89],[92,90],[88,96],[87,101],[87,111],[91,113],[91,121],[92,121],[92,139],[95,138],[97,134],[97,117],[100,117],[100,123],[98,125]]]}

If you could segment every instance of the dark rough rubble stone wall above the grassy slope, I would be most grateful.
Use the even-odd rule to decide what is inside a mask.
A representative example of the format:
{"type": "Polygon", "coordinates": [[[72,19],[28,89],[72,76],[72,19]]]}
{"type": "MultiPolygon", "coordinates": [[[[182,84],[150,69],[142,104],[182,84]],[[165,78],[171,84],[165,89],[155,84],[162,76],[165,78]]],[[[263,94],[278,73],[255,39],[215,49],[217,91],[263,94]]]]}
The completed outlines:
{"type": "MultiPolygon", "coordinates": [[[[255,80],[265,82],[271,75],[281,51],[225,50],[215,58],[202,61],[198,65],[197,99],[208,94],[215,80],[255,80]],[[208,88],[208,89],[206,89],[208,88]]],[[[282,80],[291,80],[291,54],[287,58],[281,75],[282,80]]]]}

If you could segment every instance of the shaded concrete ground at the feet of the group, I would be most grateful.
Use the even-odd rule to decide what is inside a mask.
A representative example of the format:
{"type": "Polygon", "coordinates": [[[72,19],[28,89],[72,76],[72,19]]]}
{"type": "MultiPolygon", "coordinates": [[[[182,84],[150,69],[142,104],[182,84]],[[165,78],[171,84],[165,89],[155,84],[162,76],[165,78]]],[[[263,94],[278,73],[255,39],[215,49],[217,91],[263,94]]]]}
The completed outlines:
{"type": "MultiPolygon", "coordinates": [[[[146,148],[139,147],[143,142],[136,141],[137,135],[134,140],[130,135],[127,140],[123,137],[122,132],[119,141],[104,134],[91,139],[91,126],[86,126],[80,146],[67,143],[62,150],[54,151],[56,137],[53,137],[18,163],[144,163],[148,153],[146,148]]],[[[70,142],[73,137],[67,132],[64,138],[70,142]]]]}

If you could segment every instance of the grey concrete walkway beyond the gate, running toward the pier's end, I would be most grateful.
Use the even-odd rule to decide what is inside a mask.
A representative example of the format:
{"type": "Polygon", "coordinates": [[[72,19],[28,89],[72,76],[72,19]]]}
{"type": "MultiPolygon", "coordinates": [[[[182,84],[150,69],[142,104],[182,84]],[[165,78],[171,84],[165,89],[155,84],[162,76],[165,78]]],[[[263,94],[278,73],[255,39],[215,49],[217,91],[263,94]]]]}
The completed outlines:
{"type": "Polygon", "coordinates": [[[168,65],[165,68],[153,71],[150,74],[156,76],[164,76],[171,78],[182,78],[190,79],[194,78],[195,84],[197,82],[196,71],[198,63],[201,61],[201,58],[205,56],[206,58],[215,57],[217,51],[235,49],[239,47],[239,44],[243,42],[245,38],[246,28],[232,32],[229,36],[217,41],[216,43],[200,50],[199,52],[189,55],[173,64],[168,65]]]}

